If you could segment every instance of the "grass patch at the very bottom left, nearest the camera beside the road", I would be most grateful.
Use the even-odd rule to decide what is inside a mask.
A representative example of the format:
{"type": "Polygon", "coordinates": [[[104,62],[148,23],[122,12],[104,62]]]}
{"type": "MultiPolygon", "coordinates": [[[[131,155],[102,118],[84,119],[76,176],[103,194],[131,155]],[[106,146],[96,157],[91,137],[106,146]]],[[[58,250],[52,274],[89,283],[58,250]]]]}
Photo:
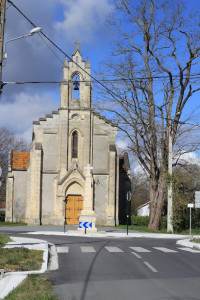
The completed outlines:
{"type": "Polygon", "coordinates": [[[52,291],[53,286],[46,276],[29,275],[4,300],[58,300],[52,291]]]}

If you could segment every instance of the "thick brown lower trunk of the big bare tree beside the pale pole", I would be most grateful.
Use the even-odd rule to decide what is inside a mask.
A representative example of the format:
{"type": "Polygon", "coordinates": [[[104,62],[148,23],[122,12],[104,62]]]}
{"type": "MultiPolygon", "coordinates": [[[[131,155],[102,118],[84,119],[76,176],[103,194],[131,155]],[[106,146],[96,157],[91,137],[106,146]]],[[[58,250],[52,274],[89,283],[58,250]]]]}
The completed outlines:
{"type": "Polygon", "coordinates": [[[150,221],[149,229],[158,231],[162,218],[162,210],[165,199],[166,182],[164,175],[160,173],[158,180],[150,181],[150,221]]]}

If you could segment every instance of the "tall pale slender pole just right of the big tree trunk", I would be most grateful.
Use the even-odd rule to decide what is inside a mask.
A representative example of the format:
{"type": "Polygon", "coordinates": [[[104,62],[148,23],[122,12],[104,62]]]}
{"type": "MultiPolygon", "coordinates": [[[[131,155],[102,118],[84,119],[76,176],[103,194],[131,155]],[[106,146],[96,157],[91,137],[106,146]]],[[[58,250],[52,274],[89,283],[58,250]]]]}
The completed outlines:
{"type": "Polygon", "coordinates": [[[172,120],[169,120],[169,154],[168,154],[168,173],[170,175],[170,183],[168,186],[168,202],[167,202],[167,231],[173,233],[173,208],[172,208],[172,120]]]}

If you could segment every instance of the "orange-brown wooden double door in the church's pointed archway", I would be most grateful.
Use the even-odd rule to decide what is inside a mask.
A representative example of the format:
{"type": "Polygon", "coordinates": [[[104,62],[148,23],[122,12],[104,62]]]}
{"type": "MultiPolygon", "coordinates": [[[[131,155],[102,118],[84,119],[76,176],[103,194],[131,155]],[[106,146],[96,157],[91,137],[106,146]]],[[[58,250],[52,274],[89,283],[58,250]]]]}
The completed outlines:
{"type": "Polygon", "coordinates": [[[79,215],[83,209],[83,197],[78,195],[68,195],[65,206],[65,223],[68,225],[78,225],[79,215]]]}

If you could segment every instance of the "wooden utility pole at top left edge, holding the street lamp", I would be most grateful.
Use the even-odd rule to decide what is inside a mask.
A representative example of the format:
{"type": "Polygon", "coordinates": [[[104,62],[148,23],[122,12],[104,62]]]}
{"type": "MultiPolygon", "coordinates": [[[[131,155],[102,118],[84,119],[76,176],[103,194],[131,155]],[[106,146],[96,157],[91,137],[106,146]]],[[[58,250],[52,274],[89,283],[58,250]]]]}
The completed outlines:
{"type": "Polygon", "coordinates": [[[0,0],[0,94],[2,93],[2,64],[3,64],[3,42],[4,42],[4,24],[6,13],[6,0],[0,0]]]}

